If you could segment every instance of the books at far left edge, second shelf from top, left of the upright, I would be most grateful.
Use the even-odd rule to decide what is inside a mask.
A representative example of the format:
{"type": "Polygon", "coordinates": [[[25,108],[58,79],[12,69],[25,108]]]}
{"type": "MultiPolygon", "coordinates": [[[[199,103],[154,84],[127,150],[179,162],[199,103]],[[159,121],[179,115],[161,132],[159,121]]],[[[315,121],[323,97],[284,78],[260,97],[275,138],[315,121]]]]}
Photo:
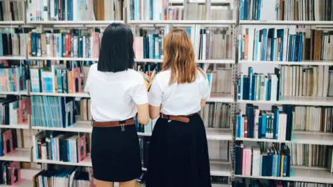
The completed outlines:
{"type": "Polygon", "coordinates": [[[0,56],[25,56],[28,35],[26,33],[14,33],[15,30],[1,31],[6,33],[0,33],[0,56]]]}

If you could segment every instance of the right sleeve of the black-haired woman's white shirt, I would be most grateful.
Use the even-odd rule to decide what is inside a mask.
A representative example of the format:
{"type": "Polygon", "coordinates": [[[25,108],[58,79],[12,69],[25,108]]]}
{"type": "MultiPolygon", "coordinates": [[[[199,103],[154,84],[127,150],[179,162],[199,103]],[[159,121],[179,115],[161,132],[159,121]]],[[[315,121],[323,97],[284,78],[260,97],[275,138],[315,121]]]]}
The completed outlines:
{"type": "Polygon", "coordinates": [[[133,87],[132,99],[137,105],[143,105],[148,103],[148,94],[146,90],[146,84],[144,84],[144,78],[140,78],[140,81],[137,82],[133,87]]]}

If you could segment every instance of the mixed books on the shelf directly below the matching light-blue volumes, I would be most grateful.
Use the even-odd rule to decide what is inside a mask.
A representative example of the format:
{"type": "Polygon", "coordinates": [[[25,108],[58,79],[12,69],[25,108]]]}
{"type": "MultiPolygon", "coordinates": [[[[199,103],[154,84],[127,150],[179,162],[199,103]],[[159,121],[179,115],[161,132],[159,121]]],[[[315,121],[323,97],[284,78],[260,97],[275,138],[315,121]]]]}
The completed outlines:
{"type": "Polygon", "coordinates": [[[79,163],[87,159],[86,136],[59,132],[35,135],[35,159],[79,163]]]}

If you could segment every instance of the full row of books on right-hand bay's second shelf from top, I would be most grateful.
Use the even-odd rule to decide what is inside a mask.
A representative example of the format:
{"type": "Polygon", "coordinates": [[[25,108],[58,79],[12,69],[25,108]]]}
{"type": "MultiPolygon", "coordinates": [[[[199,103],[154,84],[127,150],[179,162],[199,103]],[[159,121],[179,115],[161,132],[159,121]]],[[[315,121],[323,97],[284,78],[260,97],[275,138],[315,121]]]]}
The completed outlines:
{"type": "Polygon", "coordinates": [[[244,28],[239,35],[239,60],[300,62],[333,60],[333,33],[290,28],[244,28]]]}

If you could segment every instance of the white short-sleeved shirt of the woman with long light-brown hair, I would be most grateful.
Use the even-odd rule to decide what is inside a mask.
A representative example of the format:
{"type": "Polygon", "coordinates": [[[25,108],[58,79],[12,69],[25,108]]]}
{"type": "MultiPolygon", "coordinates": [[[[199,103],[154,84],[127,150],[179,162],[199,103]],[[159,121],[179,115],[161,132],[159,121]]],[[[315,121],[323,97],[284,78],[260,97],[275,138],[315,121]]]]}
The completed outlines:
{"type": "Polygon", "coordinates": [[[201,99],[210,96],[207,75],[198,70],[194,82],[169,85],[170,76],[170,70],[157,73],[149,90],[149,105],[161,107],[163,114],[173,116],[199,112],[201,99]]]}

